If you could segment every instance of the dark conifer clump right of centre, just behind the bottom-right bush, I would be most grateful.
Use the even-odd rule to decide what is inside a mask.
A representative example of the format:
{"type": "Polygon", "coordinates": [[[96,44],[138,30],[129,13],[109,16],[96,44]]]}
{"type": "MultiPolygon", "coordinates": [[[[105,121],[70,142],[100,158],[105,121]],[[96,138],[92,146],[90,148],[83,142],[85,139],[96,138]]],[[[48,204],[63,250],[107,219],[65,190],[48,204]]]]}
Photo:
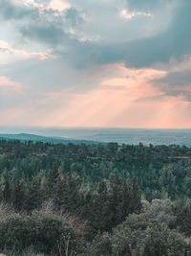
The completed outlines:
{"type": "Polygon", "coordinates": [[[135,181],[122,180],[114,175],[102,181],[92,194],[83,216],[90,221],[93,231],[111,231],[118,223],[141,209],[140,193],[135,181]]]}

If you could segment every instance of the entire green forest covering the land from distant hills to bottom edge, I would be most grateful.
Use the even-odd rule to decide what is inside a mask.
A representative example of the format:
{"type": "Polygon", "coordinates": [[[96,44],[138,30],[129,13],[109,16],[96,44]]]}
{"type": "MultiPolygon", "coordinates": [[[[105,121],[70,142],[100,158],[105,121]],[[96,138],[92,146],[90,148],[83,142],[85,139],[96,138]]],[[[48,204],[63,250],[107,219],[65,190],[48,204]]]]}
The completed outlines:
{"type": "Polygon", "coordinates": [[[0,253],[190,256],[191,148],[0,140],[0,253]]]}

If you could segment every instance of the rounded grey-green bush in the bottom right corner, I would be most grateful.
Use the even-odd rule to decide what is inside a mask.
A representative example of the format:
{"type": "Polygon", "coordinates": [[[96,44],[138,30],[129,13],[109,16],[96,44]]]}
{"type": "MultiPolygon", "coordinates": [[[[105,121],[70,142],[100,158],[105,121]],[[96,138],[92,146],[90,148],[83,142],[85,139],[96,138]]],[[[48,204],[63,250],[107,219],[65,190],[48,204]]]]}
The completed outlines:
{"type": "Polygon", "coordinates": [[[191,246],[164,223],[150,221],[144,214],[132,215],[118,225],[112,235],[104,233],[89,244],[83,256],[181,256],[190,255],[191,246]]]}

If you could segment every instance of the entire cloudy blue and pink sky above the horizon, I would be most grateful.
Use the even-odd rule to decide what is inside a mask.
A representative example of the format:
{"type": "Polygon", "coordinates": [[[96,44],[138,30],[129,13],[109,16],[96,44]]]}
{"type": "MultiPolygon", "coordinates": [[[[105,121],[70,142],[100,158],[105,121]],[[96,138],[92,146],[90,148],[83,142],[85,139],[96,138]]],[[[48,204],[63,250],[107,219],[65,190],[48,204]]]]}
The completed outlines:
{"type": "Polygon", "coordinates": [[[190,0],[0,0],[0,126],[191,128],[190,0]]]}

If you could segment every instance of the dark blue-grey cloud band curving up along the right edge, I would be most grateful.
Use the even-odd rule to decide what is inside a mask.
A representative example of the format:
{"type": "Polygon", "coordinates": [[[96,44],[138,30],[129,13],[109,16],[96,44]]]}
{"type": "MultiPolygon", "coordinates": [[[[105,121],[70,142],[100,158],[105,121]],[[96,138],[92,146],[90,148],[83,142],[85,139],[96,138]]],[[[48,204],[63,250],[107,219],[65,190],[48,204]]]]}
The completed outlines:
{"type": "MultiPolygon", "coordinates": [[[[168,12],[172,12],[169,26],[162,31],[158,30],[158,33],[156,33],[154,30],[153,33],[148,33],[148,35],[127,40],[124,38],[124,35],[126,35],[125,27],[118,22],[121,25],[121,28],[118,28],[118,30],[123,32],[123,37],[117,36],[118,30],[115,30],[114,25],[112,35],[115,39],[110,40],[110,36],[106,32],[108,40],[103,40],[100,36],[98,41],[74,43],[71,45],[67,57],[75,67],[86,67],[91,63],[102,64],[124,61],[128,67],[139,68],[148,67],[159,62],[168,63],[171,58],[181,61],[184,55],[191,54],[191,27],[189,26],[191,22],[189,14],[191,2],[184,0],[179,2],[179,5],[177,1],[173,3],[172,7],[166,7],[165,16],[162,16],[162,13],[159,14],[159,20],[161,21],[162,19],[165,20],[166,16],[169,15],[168,12]],[[169,11],[169,8],[172,10],[169,11]]],[[[139,26],[141,28],[142,24],[140,23],[139,26]]],[[[104,25],[102,27],[103,31],[104,25]]],[[[127,24],[126,28],[128,28],[127,24]]],[[[145,31],[144,27],[142,27],[142,31],[145,31]]],[[[131,38],[131,35],[129,37],[131,38]]]]}

